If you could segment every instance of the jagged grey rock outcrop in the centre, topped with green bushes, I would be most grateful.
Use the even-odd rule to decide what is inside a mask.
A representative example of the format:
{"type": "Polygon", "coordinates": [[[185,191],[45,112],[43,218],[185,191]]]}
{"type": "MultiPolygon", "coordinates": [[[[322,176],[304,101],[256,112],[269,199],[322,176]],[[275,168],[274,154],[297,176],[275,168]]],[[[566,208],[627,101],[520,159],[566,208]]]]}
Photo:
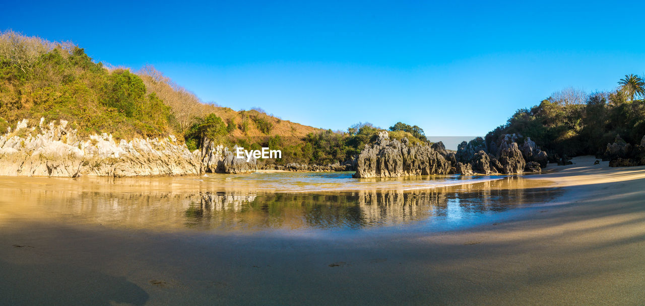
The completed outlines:
{"type": "Polygon", "coordinates": [[[404,177],[408,175],[448,174],[450,162],[428,145],[412,145],[408,139],[390,139],[387,131],[379,133],[372,145],[366,145],[357,157],[355,178],[404,177]]]}

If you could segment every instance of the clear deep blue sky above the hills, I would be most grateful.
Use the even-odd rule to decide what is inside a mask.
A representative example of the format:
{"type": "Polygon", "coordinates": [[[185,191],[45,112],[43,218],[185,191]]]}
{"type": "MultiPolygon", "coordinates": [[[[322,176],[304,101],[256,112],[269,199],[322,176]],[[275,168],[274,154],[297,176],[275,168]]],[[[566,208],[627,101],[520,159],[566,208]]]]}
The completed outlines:
{"type": "Polygon", "coordinates": [[[331,129],[485,135],[574,86],[645,71],[641,1],[5,3],[0,29],[153,64],[204,101],[331,129]]]}

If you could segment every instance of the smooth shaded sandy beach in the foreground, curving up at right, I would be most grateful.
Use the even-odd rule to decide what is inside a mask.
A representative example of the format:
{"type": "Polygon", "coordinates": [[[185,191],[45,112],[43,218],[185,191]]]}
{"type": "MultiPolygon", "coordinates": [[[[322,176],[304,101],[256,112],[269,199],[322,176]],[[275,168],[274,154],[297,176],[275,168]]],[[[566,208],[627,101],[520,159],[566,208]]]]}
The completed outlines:
{"type": "Polygon", "coordinates": [[[5,212],[0,304],[639,305],[645,167],[593,160],[522,178],[555,200],[459,230],[213,235],[5,212]]]}

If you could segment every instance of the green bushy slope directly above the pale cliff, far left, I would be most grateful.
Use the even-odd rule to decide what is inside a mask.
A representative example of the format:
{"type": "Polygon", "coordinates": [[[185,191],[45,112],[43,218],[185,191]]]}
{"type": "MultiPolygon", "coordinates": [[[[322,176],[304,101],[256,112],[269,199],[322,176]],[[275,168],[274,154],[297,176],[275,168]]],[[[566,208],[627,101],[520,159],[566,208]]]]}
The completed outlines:
{"type": "Polygon", "coordinates": [[[170,108],[128,70],[108,70],[82,48],[15,32],[0,35],[0,117],[64,119],[81,134],[157,136],[174,130],[170,108]]]}

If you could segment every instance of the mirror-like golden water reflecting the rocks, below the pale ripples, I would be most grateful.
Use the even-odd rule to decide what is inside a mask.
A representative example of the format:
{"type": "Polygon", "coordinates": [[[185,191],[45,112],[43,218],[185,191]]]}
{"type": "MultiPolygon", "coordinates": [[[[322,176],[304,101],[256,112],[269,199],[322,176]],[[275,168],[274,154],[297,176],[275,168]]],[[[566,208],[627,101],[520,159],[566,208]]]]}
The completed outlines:
{"type": "Polygon", "coordinates": [[[146,178],[139,178],[134,187],[127,180],[87,184],[23,179],[0,178],[0,224],[31,220],[160,231],[361,229],[468,220],[546,202],[559,193],[543,182],[523,178],[411,191],[317,193],[210,191],[208,186],[195,190],[176,180],[143,188],[146,178]]]}

